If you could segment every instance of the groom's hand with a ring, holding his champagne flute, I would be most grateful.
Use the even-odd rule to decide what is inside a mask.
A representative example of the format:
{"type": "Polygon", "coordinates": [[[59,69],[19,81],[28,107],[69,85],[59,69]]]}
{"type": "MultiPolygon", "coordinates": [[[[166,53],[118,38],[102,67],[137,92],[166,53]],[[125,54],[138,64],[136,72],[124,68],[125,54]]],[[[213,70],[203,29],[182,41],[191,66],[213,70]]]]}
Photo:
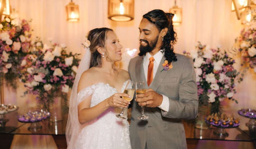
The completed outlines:
{"type": "Polygon", "coordinates": [[[139,102],[139,106],[155,108],[162,104],[163,96],[153,89],[146,89],[146,93],[136,95],[135,101],[139,102]]]}

